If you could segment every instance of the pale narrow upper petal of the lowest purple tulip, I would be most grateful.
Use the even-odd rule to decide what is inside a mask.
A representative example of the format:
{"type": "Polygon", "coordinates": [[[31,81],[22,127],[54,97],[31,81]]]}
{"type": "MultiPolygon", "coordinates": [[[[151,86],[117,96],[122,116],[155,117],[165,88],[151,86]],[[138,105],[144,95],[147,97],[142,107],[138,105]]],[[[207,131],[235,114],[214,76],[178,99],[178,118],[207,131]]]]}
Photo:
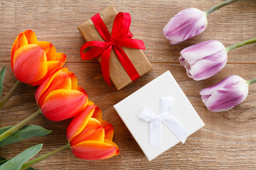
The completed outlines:
{"type": "Polygon", "coordinates": [[[215,84],[213,86],[210,86],[206,89],[202,89],[200,91],[200,95],[211,95],[218,89],[222,88],[223,86],[231,85],[231,84],[237,84],[238,81],[245,81],[245,79],[242,79],[242,77],[239,77],[237,75],[229,76],[222,81],[220,81],[218,84],[215,84]]]}

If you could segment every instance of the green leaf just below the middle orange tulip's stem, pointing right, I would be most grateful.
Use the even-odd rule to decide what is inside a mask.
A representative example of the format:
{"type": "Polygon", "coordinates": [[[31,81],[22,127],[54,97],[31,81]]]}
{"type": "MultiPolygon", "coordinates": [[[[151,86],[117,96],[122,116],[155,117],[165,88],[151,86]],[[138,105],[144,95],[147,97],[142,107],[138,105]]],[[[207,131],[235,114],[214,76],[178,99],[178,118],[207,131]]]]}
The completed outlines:
{"type": "MultiPolygon", "coordinates": [[[[11,126],[6,126],[4,128],[0,128],[0,134],[5,132],[6,130],[9,130],[11,126]]],[[[30,137],[41,137],[48,135],[51,130],[46,130],[45,128],[42,128],[38,125],[26,125],[17,132],[14,132],[14,134],[10,135],[9,137],[6,137],[4,140],[0,141],[0,147],[4,145],[9,145],[14,142],[19,142],[21,140],[26,140],[30,137]]]]}

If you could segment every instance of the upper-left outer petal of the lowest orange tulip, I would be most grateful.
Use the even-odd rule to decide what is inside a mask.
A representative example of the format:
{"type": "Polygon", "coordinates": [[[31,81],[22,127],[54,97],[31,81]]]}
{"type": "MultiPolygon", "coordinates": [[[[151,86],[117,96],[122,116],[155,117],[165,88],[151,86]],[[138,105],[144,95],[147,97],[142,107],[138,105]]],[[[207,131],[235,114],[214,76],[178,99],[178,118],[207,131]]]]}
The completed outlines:
{"type": "Polygon", "coordinates": [[[85,129],[94,111],[95,106],[87,106],[78,116],[73,118],[67,130],[68,141],[73,140],[76,135],[85,129]]]}

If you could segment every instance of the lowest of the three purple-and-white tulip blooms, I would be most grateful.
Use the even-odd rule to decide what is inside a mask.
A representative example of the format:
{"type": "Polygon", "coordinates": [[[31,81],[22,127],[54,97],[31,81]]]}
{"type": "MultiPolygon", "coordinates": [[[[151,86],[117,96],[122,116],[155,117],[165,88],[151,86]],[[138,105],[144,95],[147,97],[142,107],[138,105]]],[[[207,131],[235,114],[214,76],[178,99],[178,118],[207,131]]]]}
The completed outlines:
{"type": "Polygon", "coordinates": [[[209,111],[228,111],[245,100],[248,86],[249,83],[245,79],[233,75],[218,84],[201,90],[200,94],[209,111]]]}

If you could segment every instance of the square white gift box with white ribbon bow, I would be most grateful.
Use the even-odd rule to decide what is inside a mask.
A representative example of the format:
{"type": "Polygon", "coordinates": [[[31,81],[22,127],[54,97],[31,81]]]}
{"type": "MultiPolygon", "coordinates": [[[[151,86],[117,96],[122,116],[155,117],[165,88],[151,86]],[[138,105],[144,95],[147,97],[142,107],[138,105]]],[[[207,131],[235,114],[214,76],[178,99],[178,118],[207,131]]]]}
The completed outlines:
{"type": "Polygon", "coordinates": [[[184,143],[204,126],[169,71],[124,98],[114,109],[149,161],[178,142],[184,143]]]}

